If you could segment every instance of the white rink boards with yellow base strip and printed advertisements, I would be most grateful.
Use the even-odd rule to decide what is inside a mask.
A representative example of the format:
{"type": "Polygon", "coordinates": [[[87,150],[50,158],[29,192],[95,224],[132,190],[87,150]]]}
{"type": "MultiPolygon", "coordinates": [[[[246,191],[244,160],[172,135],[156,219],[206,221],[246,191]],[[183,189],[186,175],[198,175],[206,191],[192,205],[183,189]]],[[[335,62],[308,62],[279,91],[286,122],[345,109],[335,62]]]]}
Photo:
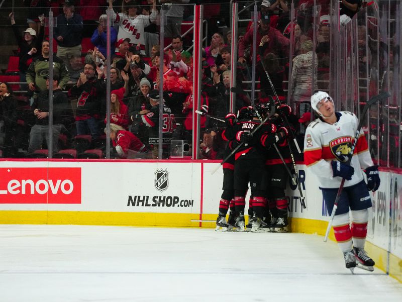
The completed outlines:
{"type": "MultiPolygon", "coordinates": [[[[213,228],[223,171],[211,171],[218,165],[205,160],[2,160],[0,224],[213,228]]],[[[297,170],[303,197],[288,184],[291,231],[324,235],[329,214],[317,178],[304,165],[297,170]]],[[[382,169],[380,178],[372,194],[367,249],[379,268],[389,267],[389,274],[402,281],[402,173],[382,169]]]]}

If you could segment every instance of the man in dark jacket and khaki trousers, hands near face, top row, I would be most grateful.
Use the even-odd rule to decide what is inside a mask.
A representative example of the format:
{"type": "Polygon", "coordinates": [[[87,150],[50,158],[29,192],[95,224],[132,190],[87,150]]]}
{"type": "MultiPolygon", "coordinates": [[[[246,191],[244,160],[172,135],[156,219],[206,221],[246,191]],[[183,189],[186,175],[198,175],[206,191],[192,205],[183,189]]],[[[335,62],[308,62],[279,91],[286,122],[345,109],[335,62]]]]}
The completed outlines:
{"type": "Polygon", "coordinates": [[[72,55],[81,55],[82,17],[75,13],[72,2],[65,1],[63,14],[57,16],[56,22],[57,26],[53,32],[53,38],[57,41],[56,55],[68,64],[72,55]]]}

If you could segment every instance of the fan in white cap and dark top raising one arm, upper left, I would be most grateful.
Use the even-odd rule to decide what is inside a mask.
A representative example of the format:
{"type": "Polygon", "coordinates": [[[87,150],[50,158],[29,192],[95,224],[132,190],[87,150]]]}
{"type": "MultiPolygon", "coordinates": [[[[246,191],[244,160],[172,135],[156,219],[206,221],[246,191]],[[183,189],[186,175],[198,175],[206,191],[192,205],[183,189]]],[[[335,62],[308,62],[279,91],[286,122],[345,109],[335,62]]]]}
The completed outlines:
{"type": "Polygon", "coordinates": [[[39,29],[38,36],[36,35],[36,31],[30,27],[23,32],[22,36],[19,27],[16,25],[14,20],[14,13],[10,13],[9,18],[11,21],[11,28],[13,29],[14,36],[16,37],[19,47],[18,56],[20,57],[20,61],[18,64],[18,69],[20,70],[20,81],[25,82],[25,73],[29,64],[31,64],[32,60],[38,57],[41,53],[41,43],[45,31],[43,24],[41,23],[42,26],[39,29]]]}

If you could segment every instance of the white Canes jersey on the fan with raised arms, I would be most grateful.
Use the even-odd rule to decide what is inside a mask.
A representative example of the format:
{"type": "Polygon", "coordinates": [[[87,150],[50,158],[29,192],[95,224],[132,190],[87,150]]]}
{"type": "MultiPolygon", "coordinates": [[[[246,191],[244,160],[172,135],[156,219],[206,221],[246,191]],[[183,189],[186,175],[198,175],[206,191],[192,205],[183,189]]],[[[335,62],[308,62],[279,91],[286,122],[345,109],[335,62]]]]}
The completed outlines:
{"type": "Polygon", "coordinates": [[[140,45],[141,54],[145,55],[145,34],[144,28],[154,22],[157,17],[157,12],[152,11],[151,15],[138,15],[130,17],[126,14],[119,13],[116,15],[115,11],[110,10],[111,19],[119,24],[119,33],[117,41],[120,39],[130,39],[130,44],[140,45]]]}

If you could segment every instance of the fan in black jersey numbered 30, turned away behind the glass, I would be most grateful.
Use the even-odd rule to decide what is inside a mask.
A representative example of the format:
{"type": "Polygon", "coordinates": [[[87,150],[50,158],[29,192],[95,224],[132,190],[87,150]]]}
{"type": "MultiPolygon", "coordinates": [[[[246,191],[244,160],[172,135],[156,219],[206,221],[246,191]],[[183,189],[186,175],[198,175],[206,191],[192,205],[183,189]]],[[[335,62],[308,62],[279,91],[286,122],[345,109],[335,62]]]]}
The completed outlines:
{"type": "MultiPolygon", "coordinates": [[[[149,140],[148,143],[151,146],[152,158],[158,158],[158,147],[159,147],[159,91],[154,89],[149,92],[149,103],[152,108],[146,115],[141,115],[138,119],[143,122],[147,127],[149,127],[149,140]]],[[[176,128],[176,123],[174,119],[174,114],[171,109],[166,106],[164,100],[163,104],[163,124],[162,126],[162,148],[163,148],[163,158],[168,158],[170,152],[170,140],[172,138],[173,131],[176,128]]]]}

